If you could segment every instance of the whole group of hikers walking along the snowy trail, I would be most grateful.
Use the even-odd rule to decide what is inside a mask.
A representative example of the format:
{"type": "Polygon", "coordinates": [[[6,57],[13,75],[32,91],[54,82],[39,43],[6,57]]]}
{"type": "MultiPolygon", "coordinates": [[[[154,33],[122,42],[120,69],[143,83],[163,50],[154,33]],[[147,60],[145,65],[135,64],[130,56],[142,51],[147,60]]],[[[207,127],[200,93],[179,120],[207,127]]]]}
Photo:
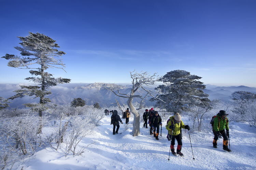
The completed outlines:
{"type": "MultiPolygon", "coordinates": [[[[119,122],[123,124],[123,121],[120,119],[120,116],[117,114],[117,111],[110,111],[112,112],[111,116],[111,124],[113,124],[113,135],[118,134],[119,130],[119,122]],[[116,128],[117,127],[117,128],[116,128]],[[115,130],[116,128],[116,130],[115,130]]],[[[231,152],[231,150],[228,148],[228,139],[229,139],[229,121],[226,117],[228,114],[226,114],[225,111],[221,110],[216,116],[212,117],[211,124],[212,124],[212,131],[214,134],[213,139],[213,148],[217,148],[217,140],[219,138],[223,137],[223,150],[231,152]],[[225,131],[226,129],[226,131],[225,131]]],[[[126,109],[126,111],[123,113],[123,117],[126,119],[126,124],[129,122],[130,117],[130,111],[129,108],[126,109]]],[[[159,140],[159,129],[161,126],[162,129],[162,119],[161,116],[158,114],[157,111],[154,110],[154,108],[151,108],[149,111],[148,109],[145,109],[145,112],[143,113],[143,128],[148,128],[147,125],[150,127],[150,135],[154,135],[156,140],[159,140]],[[153,131],[153,132],[152,132],[153,131]]],[[[189,125],[185,125],[183,121],[181,120],[181,115],[179,113],[176,113],[174,116],[171,116],[167,120],[166,129],[168,130],[167,139],[171,140],[171,146],[170,151],[173,155],[180,155],[183,156],[183,153],[181,153],[182,149],[182,129],[190,130],[189,125]],[[177,149],[175,152],[175,139],[177,140],[177,149]]],[[[190,136],[189,136],[190,137],[190,136]]]]}

